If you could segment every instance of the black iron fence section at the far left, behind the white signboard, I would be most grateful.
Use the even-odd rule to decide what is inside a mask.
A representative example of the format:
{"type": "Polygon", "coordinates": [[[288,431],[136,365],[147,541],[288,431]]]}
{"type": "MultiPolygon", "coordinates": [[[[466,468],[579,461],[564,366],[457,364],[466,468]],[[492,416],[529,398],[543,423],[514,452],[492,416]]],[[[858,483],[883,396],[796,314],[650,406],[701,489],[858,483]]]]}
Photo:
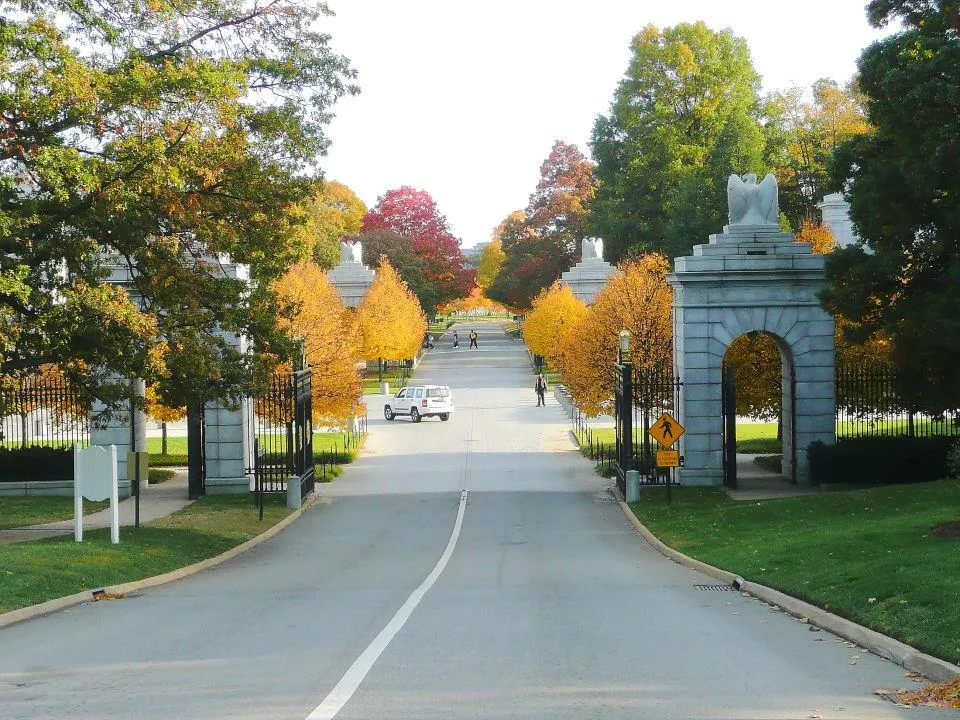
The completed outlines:
{"type": "Polygon", "coordinates": [[[89,408],[65,380],[36,376],[0,382],[0,447],[71,448],[89,442],[89,408]]]}

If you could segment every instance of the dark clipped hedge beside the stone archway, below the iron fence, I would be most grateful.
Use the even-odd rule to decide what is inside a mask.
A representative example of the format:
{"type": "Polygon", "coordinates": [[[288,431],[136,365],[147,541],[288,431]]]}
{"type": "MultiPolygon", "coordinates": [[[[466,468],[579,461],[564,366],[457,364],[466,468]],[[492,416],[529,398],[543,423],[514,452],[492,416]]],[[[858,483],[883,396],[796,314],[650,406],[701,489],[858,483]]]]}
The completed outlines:
{"type": "Polygon", "coordinates": [[[947,477],[953,437],[849,438],[835,445],[815,442],[807,450],[814,484],[886,485],[947,477]]]}

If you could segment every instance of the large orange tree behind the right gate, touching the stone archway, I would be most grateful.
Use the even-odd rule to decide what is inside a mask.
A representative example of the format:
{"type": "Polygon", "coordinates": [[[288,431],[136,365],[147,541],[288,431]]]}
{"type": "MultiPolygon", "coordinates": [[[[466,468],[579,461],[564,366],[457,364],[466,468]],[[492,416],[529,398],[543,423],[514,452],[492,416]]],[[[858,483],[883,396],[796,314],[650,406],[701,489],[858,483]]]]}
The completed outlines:
{"type": "Polygon", "coordinates": [[[594,417],[610,410],[620,331],[630,331],[635,366],[648,368],[673,357],[673,291],[670,263],[658,253],[617,268],[607,285],[568,335],[563,348],[563,382],[577,405],[594,417]]]}

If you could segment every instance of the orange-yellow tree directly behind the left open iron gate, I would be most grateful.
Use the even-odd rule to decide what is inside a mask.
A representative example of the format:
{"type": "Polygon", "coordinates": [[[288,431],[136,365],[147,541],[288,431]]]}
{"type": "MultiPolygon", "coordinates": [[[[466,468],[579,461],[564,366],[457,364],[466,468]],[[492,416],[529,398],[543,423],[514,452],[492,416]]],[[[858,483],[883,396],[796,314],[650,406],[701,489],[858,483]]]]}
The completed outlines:
{"type": "Polygon", "coordinates": [[[314,420],[343,424],[357,414],[362,396],[360,343],[350,311],[326,273],[310,260],[294,265],[277,281],[276,290],[293,311],[284,323],[286,330],[302,339],[313,370],[314,420]]]}

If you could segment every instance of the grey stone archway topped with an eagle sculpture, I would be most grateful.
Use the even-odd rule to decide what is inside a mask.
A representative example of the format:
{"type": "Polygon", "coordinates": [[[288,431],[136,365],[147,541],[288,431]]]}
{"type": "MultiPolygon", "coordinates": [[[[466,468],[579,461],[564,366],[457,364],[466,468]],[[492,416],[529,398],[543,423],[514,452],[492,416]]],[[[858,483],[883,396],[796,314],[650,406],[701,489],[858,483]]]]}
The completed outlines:
{"type": "Polygon", "coordinates": [[[724,232],[694,247],[692,256],[676,258],[667,278],[674,291],[674,365],[683,383],[679,420],[686,428],[679,480],[723,483],[723,356],[735,338],[761,331],[774,336],[783,358],[784,475],[809,483],[807,447],[836,436],[834,320],[816,297],[824,257],[780,232],[772,176],[756,185],[734,175],[728,198],[724,232]]]}

